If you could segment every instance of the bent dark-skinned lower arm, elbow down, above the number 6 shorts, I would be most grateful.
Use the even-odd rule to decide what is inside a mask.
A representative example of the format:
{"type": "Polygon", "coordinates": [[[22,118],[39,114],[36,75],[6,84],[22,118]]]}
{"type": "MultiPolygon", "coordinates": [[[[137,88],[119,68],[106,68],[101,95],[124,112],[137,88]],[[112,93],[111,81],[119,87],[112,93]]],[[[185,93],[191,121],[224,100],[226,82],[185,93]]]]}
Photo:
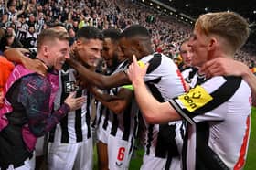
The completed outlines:
{"type": "Polygon", "coordinates": [[[109,94],[102,94],[100,93],[94,93],[95,98],[100,101],[104,106],[106,106],[108,109],[110,109],[115,114],[119,114],[123,112],[128,106],[129,103],[133,99],[133,90],[127,90],[122,88],[118,91],[117,95],[109,95],[109,94]],[[104,97],[102,97],[104,96],[104,97]],[[112,101],[104,101],[104,98],[106,96],[109,96],[109,99],[112,99],[112,101]],[[115,99],[115,100],[114,100],[115,99]]]}

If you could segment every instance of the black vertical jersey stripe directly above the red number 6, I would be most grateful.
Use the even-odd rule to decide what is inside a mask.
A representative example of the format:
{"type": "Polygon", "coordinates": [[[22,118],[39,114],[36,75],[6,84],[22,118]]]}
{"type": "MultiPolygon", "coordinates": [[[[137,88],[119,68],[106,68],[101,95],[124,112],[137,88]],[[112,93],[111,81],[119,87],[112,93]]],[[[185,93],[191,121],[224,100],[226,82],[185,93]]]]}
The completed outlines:
{"type": "Polygon", "coordinates": [[[128,141],[131,129],[131,112],[132,112],[132,101],[123,112],[123,140],[128,141]]]}

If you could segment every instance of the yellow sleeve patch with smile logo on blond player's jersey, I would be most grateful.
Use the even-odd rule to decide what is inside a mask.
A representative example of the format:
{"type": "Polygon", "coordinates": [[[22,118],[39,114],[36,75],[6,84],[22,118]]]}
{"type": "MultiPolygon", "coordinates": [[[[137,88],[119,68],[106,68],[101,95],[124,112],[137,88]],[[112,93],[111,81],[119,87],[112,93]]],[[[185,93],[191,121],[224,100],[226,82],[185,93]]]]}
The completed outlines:
{"type": "Polygon", "coordinates": [[[213,98],[208,94],[208,91],[201,86],[189,90],[186,94],[180,95],[178,100],[182,102],[183,106],[189,112],[194,112],[198,108],[203,107],[213,98]]]}

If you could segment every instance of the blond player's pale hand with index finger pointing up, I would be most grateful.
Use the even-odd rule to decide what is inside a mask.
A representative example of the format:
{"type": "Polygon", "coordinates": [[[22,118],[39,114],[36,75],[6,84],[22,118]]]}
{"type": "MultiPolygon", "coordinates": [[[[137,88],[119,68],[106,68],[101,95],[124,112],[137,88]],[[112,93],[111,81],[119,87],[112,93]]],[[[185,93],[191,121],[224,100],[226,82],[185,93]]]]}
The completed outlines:
{"type": "Polygon", "coordinates": [[[144,75],[148,66],[148,63],[145,65],[144,63],[138,63],[137,58],[135,57],[135,55],[133,55],[133,63],[129,66],[129,69],[127,71],[129,79],[133,83],[144,80],[144,75]]]}

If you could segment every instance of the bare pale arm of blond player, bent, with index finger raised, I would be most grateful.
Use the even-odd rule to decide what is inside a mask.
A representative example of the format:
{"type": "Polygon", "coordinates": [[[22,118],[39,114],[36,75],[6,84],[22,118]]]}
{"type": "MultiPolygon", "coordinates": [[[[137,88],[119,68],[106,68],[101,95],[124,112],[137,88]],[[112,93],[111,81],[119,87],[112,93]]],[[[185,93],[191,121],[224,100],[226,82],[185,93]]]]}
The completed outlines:
{"type": "Polygon", "coordinates": [[[181,120],[180,115],[169,104],[169,102],[156,101],[152,94],[146,89],[144,75],[148,64],[144,68],[139,67],[137,59],[133,57],[133,63],[128,69],[128,77],[133,82],[136,101],[146,122],[165,123],[181,120]]]}

